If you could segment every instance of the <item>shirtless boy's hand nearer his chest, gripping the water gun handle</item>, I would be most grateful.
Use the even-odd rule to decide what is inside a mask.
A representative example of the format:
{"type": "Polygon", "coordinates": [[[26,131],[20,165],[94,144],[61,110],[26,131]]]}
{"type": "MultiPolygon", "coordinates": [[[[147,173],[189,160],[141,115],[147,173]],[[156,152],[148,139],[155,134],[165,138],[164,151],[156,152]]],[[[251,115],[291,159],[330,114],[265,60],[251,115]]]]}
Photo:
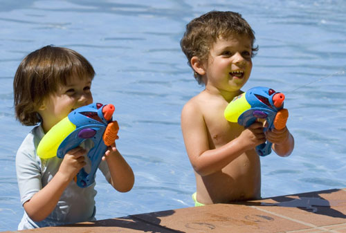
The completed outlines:
{"type": "Polygon", "coordinates": [[[247,149],[253,149],[257,145],[266,142],[262,122],[254,122],[240,134],[239,138],[247,149]]]}

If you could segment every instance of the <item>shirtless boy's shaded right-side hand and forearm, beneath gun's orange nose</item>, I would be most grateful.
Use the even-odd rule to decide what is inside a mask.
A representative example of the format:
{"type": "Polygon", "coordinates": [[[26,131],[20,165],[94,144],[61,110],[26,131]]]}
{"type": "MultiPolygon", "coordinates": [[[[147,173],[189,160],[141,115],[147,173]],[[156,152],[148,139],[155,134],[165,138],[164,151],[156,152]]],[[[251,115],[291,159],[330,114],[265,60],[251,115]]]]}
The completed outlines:
{"type": "Polygon", "coordinates": [[[289,156],[294,148],[294,138],[287,127],[284,129],[271,129],[266,131],[266,138],[269,142],[273,142],[273,151],[278,156],[289,156]]]}

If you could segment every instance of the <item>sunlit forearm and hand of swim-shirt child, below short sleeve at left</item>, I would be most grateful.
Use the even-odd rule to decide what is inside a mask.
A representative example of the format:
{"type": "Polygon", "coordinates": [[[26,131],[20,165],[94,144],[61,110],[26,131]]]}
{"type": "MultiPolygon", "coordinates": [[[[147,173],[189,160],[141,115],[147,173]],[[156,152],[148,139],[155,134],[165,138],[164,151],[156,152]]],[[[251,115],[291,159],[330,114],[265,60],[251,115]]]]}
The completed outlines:
{"type": "Polygon", "coordinates": [[[29,201],[24,203],[24,209],[33,221],[44,220],[55,209],[67,185],[86,164],[84,162],[85,153],[86,151],[81,147],[76,147],[66,153],[59,171],[57,171],[52,180],[30,198],[29,201]]]}

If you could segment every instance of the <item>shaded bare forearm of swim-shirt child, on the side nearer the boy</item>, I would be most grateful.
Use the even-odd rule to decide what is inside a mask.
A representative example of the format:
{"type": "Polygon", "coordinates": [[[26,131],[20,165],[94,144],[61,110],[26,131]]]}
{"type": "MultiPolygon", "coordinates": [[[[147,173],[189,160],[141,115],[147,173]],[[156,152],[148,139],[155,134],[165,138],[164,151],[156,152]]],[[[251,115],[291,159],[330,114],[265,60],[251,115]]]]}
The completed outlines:
{"type": "Polygon", "coordinates": [[[111,173],[110,183],[118,192],[129,192],[134,186],[134,172],[116,149],[113,143],[106,151],[102,160],[107,161],[111,173]]]}

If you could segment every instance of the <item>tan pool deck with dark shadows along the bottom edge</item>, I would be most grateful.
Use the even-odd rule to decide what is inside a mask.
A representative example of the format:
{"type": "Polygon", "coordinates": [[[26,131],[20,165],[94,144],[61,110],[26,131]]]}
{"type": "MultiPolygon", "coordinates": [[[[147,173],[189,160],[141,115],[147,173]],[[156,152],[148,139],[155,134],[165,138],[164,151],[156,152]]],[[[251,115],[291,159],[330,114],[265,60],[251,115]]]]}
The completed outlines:
{"type": "Polygon", "coordinates": [[[346,233],[346,188],[13,232],[346,233]]]}

